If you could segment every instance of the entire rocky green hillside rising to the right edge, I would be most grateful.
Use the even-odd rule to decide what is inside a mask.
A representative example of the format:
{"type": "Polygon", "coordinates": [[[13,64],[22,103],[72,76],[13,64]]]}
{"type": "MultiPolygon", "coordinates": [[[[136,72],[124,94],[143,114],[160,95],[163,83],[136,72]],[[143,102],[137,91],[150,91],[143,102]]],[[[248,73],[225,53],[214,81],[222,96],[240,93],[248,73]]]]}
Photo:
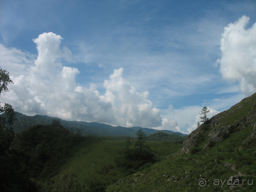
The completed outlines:
{"type": "Polygon", "coordinates": [[[255,143],[256,94],[202,124],[185,139],[179,154],[107,191],[256,191],[255,143]]]}

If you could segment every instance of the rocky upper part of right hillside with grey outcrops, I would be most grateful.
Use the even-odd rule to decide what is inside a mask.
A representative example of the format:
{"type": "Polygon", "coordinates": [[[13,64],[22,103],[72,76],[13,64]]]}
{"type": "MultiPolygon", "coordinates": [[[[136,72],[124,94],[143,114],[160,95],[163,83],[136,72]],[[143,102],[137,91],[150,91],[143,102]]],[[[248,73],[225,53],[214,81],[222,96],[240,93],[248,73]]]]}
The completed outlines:
{"type": "Polygon", "coordinates": [[[237,131],[239,129],[243,129],[246,126],[254,124],[254,132],[249,136],[246,140],[244,140],[243,145],[248,145],[252,143],[252,141],[256,139],[256,93],[251,95],[248,98],[243,99],[241,102],[232,106],[227,111],[223,111],[215,116],[213,116],[207,123],[200,125],[196,130],[191,132],[188,137],[183,141],[183,147],[179,151],[180,152],[189,152],[190,149],[197,146],[200,142],[200,137],[202,134],[207,131],[205,127],[208,127],[211,131],[208,136],[210,136],[208,142],[203,147],[209,146],[210,142],[220,142],[224,139],[227,139],[231,133],[237,131]],[[248,112],[246,112],[248,111],[248,112]],[[246,112],[246,113],[245,113],[246,112]],[[241,115],[242,114],[242,115],[241,115]],[[230,124],[223,125],[220,122],[223,118],[225,118],[228,122],[229,117],[237,119],[230,124]]]}

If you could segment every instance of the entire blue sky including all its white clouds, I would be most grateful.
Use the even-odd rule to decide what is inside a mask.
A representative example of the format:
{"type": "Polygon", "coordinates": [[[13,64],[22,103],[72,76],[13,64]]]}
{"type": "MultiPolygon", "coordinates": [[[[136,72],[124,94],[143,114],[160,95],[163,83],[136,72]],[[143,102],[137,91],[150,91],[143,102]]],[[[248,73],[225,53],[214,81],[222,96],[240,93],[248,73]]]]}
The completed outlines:
{"type": "Polygon", "coordinates": [[[16,111],[189,133],[256,91],[255,1],[0,1],[16,111]],[[222,42],[222,43],[221,43],[222,42]],[[48,51],[47,51],[48,50],[48,51]]]}

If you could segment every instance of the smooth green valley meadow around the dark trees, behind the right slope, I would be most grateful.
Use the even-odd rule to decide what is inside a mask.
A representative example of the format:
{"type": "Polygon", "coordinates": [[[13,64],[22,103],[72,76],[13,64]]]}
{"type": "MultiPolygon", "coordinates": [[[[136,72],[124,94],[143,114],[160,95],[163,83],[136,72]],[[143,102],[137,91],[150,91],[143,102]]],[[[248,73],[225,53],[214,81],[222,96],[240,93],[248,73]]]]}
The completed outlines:
{"type": "MultiPolygon", "coordinates": [[[[94,138],[95,139],[95,138],[94,138]]],[[[160,162],[166,156],[177,153],[182,143],[170,142],[147,142],[148,146],[157,155],[157,161],[160,162]]],[[[69,177],[81,185],[86,180],[92,178],[102,180],[107,187],[118,182],[121,178],[130,175],[129,170],[117,166],[116,159],[121,156],[124,148],[124,140],[106,140],[96,138],[96,140],[84,141],[78,151],[60,167],[58,174],[51,178],[41,180],[47,185],[47,188],[54,188],[64,177],[69,177]]],[[[147,168],[145,165],[141,169],[147,168]]]]}

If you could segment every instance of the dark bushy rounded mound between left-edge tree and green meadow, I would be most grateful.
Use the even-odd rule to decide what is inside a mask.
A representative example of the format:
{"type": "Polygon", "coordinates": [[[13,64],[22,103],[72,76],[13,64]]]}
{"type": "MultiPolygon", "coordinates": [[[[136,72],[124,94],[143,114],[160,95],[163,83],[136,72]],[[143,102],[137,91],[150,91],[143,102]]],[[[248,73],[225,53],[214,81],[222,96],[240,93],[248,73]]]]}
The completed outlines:
{"type": "Polygon", "coordinates": [[[30,178],[45,178],[57,174],[72,147],[83,140],[61,125],[40,124],[16,134],[13,147],[25,154],[30,178]]]}

